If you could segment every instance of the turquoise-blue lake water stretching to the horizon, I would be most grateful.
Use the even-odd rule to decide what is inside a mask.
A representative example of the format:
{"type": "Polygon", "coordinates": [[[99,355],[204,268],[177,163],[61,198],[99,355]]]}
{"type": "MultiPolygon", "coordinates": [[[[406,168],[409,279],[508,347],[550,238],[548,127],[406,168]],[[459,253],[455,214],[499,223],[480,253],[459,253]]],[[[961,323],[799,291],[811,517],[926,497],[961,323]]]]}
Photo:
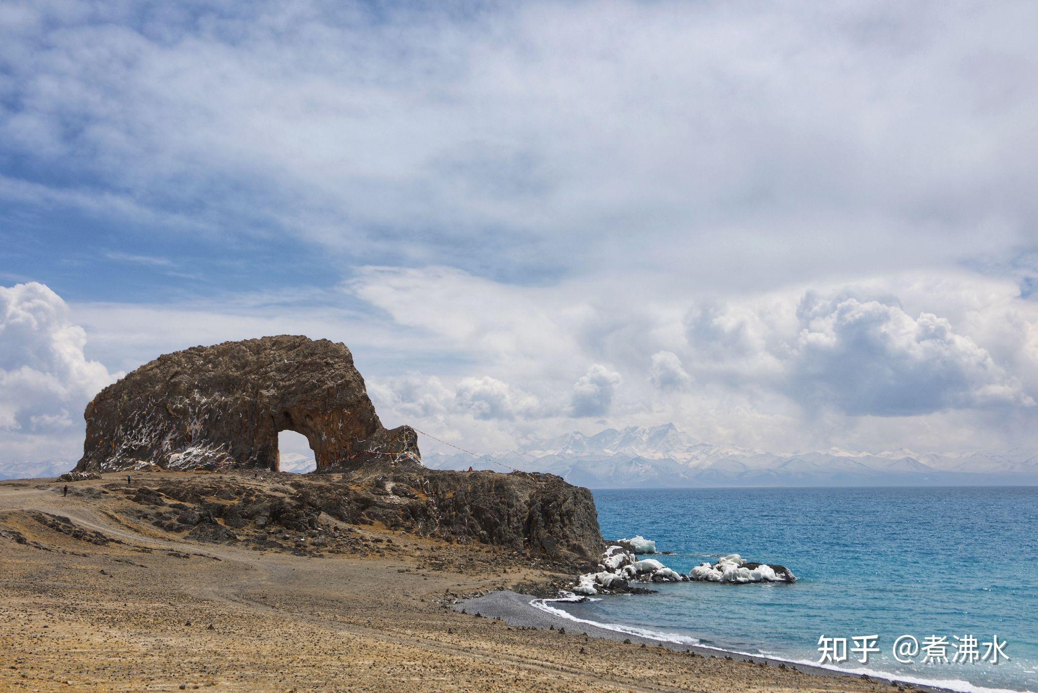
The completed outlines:
{"type": "MultiPolygon", "coordinates": [[[[656,594],[559,604],[572,615],[817,662],[819,637],[878,635],[850,670],[959,690],[1038,690],[1038,487],[595,490],[607,539],[644,535],[687,574],[737,553],[781,563],[793,585],[654,585],[656,594]],[[1008,662],[898,663],[895,640],[973,635],[1008,662]]],[[[902,659],[907,659],[902,657],[902,659]]]]}

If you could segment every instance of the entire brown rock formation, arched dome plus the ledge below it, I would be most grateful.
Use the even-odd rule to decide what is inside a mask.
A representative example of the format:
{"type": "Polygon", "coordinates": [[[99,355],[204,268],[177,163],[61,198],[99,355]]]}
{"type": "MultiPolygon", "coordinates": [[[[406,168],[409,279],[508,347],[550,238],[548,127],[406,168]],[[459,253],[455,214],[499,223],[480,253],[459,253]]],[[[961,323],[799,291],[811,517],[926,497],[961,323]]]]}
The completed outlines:
{"type": "Polygon", "coordinates": [[[270,542],[280,527],[305,533],[295,537],[305,543],[333,518],[507,547],[557,566],[588,564],[602,550],[586,488],[550,474],[425,469],[414,429],[383,428],[350,350],[326,340],[265,337],[166,354],[105,388],[85,417],[76,475],[227,472],[133,490],[142,505],[170,508],[157,511],[157,526],[193,528],[199,540],[239,541],[241,532],[270,542]],[[236,469],[279,471],[282,430],[307,437],[318,472],[339,474],[277,475],[289,486],[269,494],[263,481],[243,484],[236,469]]]}

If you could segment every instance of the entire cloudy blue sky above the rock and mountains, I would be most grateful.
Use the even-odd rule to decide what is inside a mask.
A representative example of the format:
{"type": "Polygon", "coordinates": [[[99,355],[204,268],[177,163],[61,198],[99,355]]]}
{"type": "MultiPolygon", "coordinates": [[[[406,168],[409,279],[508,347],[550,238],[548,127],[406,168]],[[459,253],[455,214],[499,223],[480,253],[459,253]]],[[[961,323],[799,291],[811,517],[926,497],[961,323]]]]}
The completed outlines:
{"type": "MultiPolygon", "coordinates": [[[[0,465],[347,344],[476,452],[1038,449],[1038,4],[0,1],[0,465]]],[[[428,438],[424,448],[432,449],[428,438]]]]}

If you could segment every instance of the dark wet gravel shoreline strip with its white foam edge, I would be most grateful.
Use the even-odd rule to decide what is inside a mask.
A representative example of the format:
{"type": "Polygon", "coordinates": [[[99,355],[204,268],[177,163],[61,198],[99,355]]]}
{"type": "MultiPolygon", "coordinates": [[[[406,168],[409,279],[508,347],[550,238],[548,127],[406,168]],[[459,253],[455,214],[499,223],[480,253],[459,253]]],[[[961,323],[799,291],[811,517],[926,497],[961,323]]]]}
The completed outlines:
{"type": "MultiPolygon", "coordinates": [[[[532,604],[534,602],[550,603],[550,602],[563,602],[563,601],[564,599],[561,598],[545,598],[532,594],[524,594],[513,590],[496,590],[493,592],[488,592],[487,594],[484,594],[482,596],[461,599],[457,604],[452,605],[450,608],[459,613],[466,613],[468,615],[473,615],[473,616],[479,614],[479,616],[482,618],[500,619],[506,623],[508,623],[509,625],[518,628],[535,628],[541,630],[554,629],[556,631],[558,629],[567,629],[566,631],[567,633],[576,633],[578,635],[583,634],[593,638],[611,640],[620,644],[626,644],[624,643],[624,641],[627,640],[629,641],[630,646],[636,646],[639,648],[641,645],[645,645],[647,647],[659,646],[678,652],[691,651],[699,657],[731,658],[732,660],[735,661],[749,662],[753,664],[757,664],[759,666],[768,666],[780,669],[786,668],[794,671],[798,670],[802,671],[803,673],[810,673],[819,676],[878,681],[884,684],[900,686],[901,688],[911,688],[917,691],[927,691],[933,693],[962,693],[963,691],[979,691],[979,692],[990,693],[990,692],[1005,690],[1005,689],[991,689],[991,688],[975,686],[973,684],[969,684],[968,682],[962,682],[963,684],[966,684],[967,688],[949,688],[947,686],[937,685],[930,682],[912,679],[912,677],[908,678],[898,677],[895,674],[886,674],[879,671],[869,670],[867,673],[855,672],[844,669],[823,667],[817,664],[810,664],[796,660],[787,660],[777,657],[763,656],[763,655],[752,655],[749,652],[742,652],[735,649],[726,649],[723,647],[703,645],[699,642],[678,642],[675,640],[664,640],[659,637],[653,637],[653,636],[662,636],[662,637],[677,636],[680,638],[687,637],[689,640],[695,640],[695,638],[691,638],[690,636],[681,636],[679,634],[655,632],[634,627],[623,627],[611,623],[598,623],[596,621],[578,619],[575,616],[569,614],[563,616],[559,615],[558,613],[552,613],[551,611],[546,611],[544,608],[538,608],[532,604]],[[626,629],[626,630],[620,630],[620,629],[626,629]]],[[[563,610],[554,609],[554,611],[563,611],[563,610]]],[[[951,683],[951,682],[946,682],[946,683],[951,683]]]]}

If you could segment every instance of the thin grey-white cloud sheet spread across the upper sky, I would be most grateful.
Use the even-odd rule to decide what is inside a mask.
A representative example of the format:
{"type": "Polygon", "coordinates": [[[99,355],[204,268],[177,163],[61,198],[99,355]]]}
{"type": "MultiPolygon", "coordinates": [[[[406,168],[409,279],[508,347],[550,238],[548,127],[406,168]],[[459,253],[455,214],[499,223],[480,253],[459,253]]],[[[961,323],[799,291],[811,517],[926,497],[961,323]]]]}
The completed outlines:
{"type": "Polygon", "coordinates": [[[1034,3],[152,11],[4,25],[0,146],[62,174],[20,194],[351,262],[720,290],[1035,241],[1034,3]]]}

